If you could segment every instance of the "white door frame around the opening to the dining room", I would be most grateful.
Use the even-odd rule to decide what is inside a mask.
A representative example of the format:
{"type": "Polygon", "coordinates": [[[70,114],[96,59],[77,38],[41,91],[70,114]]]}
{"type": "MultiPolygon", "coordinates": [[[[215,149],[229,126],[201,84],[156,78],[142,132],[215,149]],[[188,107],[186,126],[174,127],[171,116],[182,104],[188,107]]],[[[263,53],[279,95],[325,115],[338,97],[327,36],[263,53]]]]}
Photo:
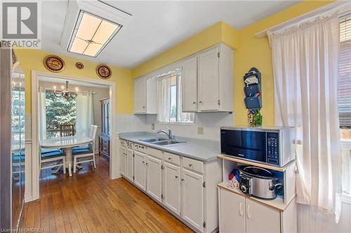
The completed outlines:
{"type": "Polygon", "coordinates": [[[52,77],[52,78],[62,78],[65,80],[77,80],[83,81],[84,83],[102,84],[108,85],[110,87],[110,179],[119,178],[119,161],[118,153],[116,151],[117,145],[114,136],[117,135],[116,127],[116,83],[109,80],[85,78],[77,76],[66,76],[58,73],[50,73],[45,71],[32,71],[32,176],[26,176],[32,178],[32,198],[34,201],[39,199],[39,77],[52,77]]]}

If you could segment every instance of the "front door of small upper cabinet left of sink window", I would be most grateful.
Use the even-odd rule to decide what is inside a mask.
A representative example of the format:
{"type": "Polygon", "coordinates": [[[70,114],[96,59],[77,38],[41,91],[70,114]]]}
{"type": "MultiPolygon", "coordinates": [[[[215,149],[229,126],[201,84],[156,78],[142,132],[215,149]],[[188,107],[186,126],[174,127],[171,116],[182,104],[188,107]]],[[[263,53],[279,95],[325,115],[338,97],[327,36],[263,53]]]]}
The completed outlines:
{"type": "Polygon", "coordinates": [[[146,113],[146,80],[134,80],[134,113],[146,113]]]}

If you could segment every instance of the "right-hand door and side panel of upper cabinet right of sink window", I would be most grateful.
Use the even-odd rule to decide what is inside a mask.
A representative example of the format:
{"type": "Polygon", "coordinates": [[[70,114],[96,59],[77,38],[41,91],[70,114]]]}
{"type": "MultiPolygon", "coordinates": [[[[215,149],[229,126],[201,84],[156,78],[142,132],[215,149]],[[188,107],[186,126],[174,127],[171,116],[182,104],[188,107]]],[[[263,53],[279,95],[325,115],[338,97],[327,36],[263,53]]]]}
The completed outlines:
{"type": "Polygon", "coordinates": [[[199,54],[198,111],[233,111],[234,52],[220,44],[199,54]]]}

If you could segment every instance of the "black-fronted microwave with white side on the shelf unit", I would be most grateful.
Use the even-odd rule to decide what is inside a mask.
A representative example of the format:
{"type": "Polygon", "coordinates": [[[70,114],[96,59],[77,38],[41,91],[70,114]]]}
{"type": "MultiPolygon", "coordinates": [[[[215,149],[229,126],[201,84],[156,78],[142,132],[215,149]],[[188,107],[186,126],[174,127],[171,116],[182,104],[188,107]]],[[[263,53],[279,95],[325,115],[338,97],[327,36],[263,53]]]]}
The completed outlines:
{"type": "Polygon", "coordinates": [[[293,128],[220,128],[223,155],[284,167],[295,159],[293,128]]]}

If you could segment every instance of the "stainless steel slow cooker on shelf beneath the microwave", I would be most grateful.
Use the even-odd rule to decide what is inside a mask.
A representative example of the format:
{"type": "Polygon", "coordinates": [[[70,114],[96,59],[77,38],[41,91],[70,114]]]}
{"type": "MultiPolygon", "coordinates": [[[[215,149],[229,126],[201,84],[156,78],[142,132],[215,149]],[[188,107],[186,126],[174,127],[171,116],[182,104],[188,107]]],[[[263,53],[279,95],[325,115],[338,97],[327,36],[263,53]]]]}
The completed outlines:
{"type": "Polygon", "coordinates": [[[262,167],[239,166],[239,188],[241,192],[263,199],[275,199],[276,190],[282,187],[271,171],[262,167]]]}

